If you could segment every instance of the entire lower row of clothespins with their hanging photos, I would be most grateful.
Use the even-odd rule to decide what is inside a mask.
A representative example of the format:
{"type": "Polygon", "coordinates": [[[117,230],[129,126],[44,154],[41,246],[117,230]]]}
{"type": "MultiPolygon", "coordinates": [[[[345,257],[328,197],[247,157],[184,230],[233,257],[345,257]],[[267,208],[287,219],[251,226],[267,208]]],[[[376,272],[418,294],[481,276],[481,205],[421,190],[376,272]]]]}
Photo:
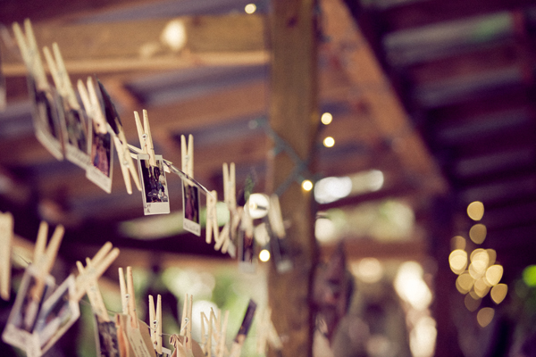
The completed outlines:
{"type": "MultiPolygon", "coordinates": [[[[13,216],[9,213],[0,215],[0,228],[4,232],[6,223],[13,228],[13,216]]],[[[78,303],[84,295],[88,295],[89,303],[96,315],[98,326],[103,324],[105,329],[96,328],[97,333],[105,334],[100,341],[107,341],[108,345],[100,345],[104,353],[110,353],[111,349],[117,350],[117,356],[129,357],[147,357],[157,355],[172,355],[176,357],[238,357],[247,332],[251,327],[253,315],[255,314],[255,302],[249,302],[247,312],[242,322],[242,326],[236,338],[233,340],[230,349],[226,344],[227,323],[229,320],[229,311],[224,313],[212,310],[208,316],[201,312],[201,341],[195,341],[192,336],[192,305],[193,298],[186,295],[182,309],[180,321],[180,334],[170,336],[170,344],[174,352],[163,347],[162,331],[162,303],[161,296],[158,295],[156,305],[153,296],[149,296],[149,325],[138,320],[136,309],[136,295],[134,292],[134,282],[132,269],[127,267],[126,278],[122,268],[119,268],[120,277],[120,294],[121,294],[121,313],[115,313],[114,319],[110,319],[110,313],[105,307],[102,294],[98,287],[98,279],[103,275],[111,264],[118,257],[120,251],[113,248],[112,243],[107,242],[98,250],[93,258],[86,258],[86,264],[77,262],[79,270],[78,276],[71,275],[59,287],[54,286],[54,278],[50,276],[50,271],[54,266],[59,247],[63,240],[64,228],[59,225],[54,229],[54,233],[47,243],[48,224],[41,222],[38,229],[38,238],[34,247],[33,262],[29,264],[25,272],[26,281],[32,279],[30,284],[21,284],[17,293],[13,310],[4,328],[4,342],[26,350],[29,356],[40,356],[54,345],[63,334],[80,316],[78,303]],[[71,282],[65,292],[68,294],[56,296],[55,289],[62,290],[65,283],[71,282]],[[64,300],[61,298],[63,297],[64,300]],[[50,302],[53,300],[52,302],[50,302]],[[47,308],[46,306],[52,306],[47,308]],[[50,311],[71,310],[70,313],[63,312],[66,318],[62,318],[61,323],[52,323],[57,320],[57,316],[50,311]],[[45,321],[45,322],[43,322],[45,321]],[[39,323],[43,322],[44,327],[38,328],[39,323]],[[48,324],[48,325],[47,325],[48,324]],[[52,326],[52,330],[51,327],[52,326]],[[42,338],[42,331],[47,331],[47,337],[42,338]],[[111,334],[113,331],[113,334],[111,334]],[[114,347],[111,348],[112,344],[114,347]],[[151,351],[155,351],[152,353],[151,351]]],[[[2,242],[5,244],[6,242],[2,242]]],[[[9,247],[2,246],[2,251],[11,251],[9,247]]],[[[9,261],[8,259],[7,261],[9,261]]],[[[11,268],[11,267],[10,267],[11,268]]],[[[11,269],[7,270],[10,271],[11,269]]],[[[1,283],[9,287],[9,278],[6,278],[6,266],[2,266],[1,283]]],[[[23,278],[23,281],[25,280],[23,278]]],[[[9,291],[9,289],[7,290],[9,291]]],[[[5,296],[3,295],[5,298],[5,296]]],[[[58,314],[59,315],[59,314],[58,314]]],[[[264,353],[266,342],[268,341],[274,348],[281,349],[281,340],[272,325],[270,312],[267,310],[261,315],[257,334],[257,346],[260,353],[264,353]]]]}

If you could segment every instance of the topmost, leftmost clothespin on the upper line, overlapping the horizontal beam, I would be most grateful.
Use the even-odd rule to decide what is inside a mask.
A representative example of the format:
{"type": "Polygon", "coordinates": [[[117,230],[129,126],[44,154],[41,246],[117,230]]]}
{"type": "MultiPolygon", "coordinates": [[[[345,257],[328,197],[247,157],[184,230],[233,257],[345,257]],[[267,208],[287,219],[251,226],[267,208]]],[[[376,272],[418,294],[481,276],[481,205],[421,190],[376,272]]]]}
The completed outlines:
{"type": "Polygon", "coordinates": [[[38,90],[47,90],[49,89],[49,85],[46,80],[45,69],[43,68],[43,62],[39,55],[38,43],[29,19],[24,21],[24,30],[26,34],[22,32],[21,26],[17,22],[13,23],[13,33],[15,34],[15,39],[21,49],[22,60],[24,61],[26,68],[35,80],[38,90]]]}

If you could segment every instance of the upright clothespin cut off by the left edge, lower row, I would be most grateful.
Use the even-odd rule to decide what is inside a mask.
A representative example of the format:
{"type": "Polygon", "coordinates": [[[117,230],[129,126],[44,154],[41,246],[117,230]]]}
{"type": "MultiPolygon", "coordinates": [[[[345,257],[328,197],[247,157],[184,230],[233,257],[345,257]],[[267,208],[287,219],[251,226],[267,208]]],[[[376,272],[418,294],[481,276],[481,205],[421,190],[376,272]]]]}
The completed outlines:
{"type": "Polygon", "coordinates": [[[9,301],[11,295],[13,214],[0,213],[0,297],[9,301]]]}

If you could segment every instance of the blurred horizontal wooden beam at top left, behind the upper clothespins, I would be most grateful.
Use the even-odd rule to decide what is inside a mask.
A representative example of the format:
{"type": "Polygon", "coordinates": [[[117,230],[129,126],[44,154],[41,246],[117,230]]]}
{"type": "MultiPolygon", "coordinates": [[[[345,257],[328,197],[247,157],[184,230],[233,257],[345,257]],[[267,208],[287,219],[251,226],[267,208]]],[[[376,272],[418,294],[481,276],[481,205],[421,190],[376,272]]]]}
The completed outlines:
{"type": "MultiPolygon", "coordinates": [[[[38,46],[58,43],[70,73],[180,69],[265,63],[264,16],[230,14],[109,23],[37,23],[38,46]],[[184,45],[163,39],[173,24],[184,45]]],[[[180,41],[179,41],[180,42],[180,41]]],[[[16,46],[0,48],[4,75],[26,73],[16,46]]]]}

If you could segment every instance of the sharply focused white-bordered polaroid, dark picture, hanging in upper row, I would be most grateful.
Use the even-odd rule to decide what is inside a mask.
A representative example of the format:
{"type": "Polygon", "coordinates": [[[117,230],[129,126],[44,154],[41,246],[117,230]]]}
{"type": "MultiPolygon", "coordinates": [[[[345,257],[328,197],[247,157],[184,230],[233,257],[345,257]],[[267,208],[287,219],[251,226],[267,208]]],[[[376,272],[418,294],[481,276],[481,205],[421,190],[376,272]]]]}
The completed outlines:
{"type": "Polygon", "coordinates": [[[156,165],[152,166],[148,154],[138,154],[138,173],[145,215],[170,212],[170,195],[163,171],[162,155],[155,155],[155,159],[156,165]]]}

